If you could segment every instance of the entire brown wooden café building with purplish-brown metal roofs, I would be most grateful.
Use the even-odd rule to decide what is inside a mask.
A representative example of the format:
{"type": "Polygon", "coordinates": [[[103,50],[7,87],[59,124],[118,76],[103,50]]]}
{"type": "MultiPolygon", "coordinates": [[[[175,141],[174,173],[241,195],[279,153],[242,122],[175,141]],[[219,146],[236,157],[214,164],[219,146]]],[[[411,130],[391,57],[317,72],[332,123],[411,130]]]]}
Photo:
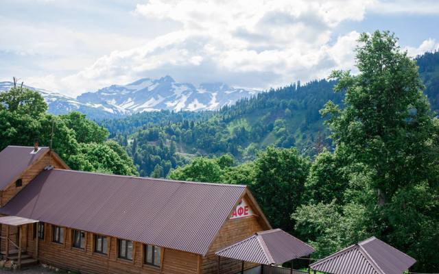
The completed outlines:
{"type": "MultiPolygon", "coordinates": [[[[71,171],[49,148],[7,147],[3,163],[0,247],[22,266],[218,273],[215,251],[272,229],[246,186],[71,171]]],[[[222,260],[219,273],[239,271],[222,260]]]]}

